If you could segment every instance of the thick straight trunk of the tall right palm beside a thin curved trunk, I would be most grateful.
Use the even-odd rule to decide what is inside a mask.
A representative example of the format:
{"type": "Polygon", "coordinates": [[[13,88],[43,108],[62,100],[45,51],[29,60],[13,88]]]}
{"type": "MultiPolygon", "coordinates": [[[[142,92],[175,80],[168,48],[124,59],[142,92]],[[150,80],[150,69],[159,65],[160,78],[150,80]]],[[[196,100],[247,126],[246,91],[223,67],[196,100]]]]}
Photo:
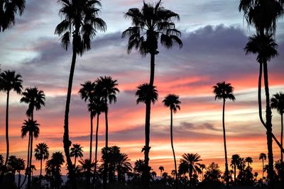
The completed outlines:
{"type": "Polygon", "coordinates": [[[272,149],[272,113],[271,113],[271,105],[270,105],[270,98],[269,98],[269,86],[268,86],[268,69],[267,69],[267,62],[263,62],[263,75],[264,75],[264,86],[266,91],[266,128],[267,128],[267,146],[268,146],[268,176],[269,176],[269,184],[271,189],[274,188],[274,171],[273,171],[273,149],[272,149]]]}

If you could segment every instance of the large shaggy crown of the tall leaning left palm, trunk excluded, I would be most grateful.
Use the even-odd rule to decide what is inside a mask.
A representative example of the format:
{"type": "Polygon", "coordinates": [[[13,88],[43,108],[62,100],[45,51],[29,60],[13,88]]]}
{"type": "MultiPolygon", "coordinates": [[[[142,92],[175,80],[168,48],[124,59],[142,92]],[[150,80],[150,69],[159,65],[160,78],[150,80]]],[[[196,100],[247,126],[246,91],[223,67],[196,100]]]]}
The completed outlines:
{"type": "Polygon", "coordinates": [[[105,31],[106,23],[98,18],[102,6],[97,0],[58,0],[62,6],[59,14],[61,23],[55,28],[55,34],[61,35],[61,46],[67,50],[70,38],[73,38],[73,48],[77,54],[91,49],[91,42],[97,30],[105,31]]]}

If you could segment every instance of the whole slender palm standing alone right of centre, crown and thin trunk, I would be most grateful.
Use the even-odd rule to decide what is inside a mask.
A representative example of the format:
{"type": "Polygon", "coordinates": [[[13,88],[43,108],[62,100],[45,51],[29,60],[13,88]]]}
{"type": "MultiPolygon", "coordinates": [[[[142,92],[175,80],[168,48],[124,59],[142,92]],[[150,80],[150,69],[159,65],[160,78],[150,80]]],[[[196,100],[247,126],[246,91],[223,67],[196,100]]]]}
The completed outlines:
{"type": "Polygon", "coordinates": [[[217,83],[216,86],[213,86],[213,93],[215,94],[215,101],[217,99],[223,99],[223,137],[224,137],[224,151],[225,151],[225,180],[226,180],[226,188],[229,188],[229,169],[228,169],[228,159],[226,155],[226,131],[225,131],[225,102],[226,99],[231,101],[235,101],[236,98],[233,94],[234,87],[231,84],[226,83],[225,81],[217,83]]]}

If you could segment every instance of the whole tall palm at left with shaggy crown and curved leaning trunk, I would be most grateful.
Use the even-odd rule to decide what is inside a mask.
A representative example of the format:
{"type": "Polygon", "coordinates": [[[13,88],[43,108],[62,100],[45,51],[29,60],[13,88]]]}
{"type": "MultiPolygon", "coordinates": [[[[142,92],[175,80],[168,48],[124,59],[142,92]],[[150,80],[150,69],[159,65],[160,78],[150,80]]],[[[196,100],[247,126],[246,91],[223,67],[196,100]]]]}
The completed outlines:
{"type": "Polygon", "coordinates": [[[69,109],[72,91],[72,81],[75,71],[75,63],[77,55],[81,55],[91,49],[91,42],[97,33],[97,30],[105,31],[106,23],[98,18],[100,10],[97,6],[101,6],[101,2],[97,0],[58,0],[61,5],[59,14],[63,19],[55,28],[55,34],[61,36],[61,46],[67,50],[72,38],[72,63],[68,81],[68,91],[65,106],[64,118],[64,150],[68,164],[72,188],[77,188],[74,168],[70,159],[69,148],[71,142],[69,139],[69,109]]]}

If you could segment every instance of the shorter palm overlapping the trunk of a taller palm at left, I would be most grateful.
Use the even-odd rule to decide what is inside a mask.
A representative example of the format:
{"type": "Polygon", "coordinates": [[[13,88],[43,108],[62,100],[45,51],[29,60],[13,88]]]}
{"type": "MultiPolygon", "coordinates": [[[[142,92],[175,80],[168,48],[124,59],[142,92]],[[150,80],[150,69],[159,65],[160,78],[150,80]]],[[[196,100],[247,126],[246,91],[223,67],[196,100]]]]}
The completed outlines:
{"type": "MultiPolygon", "coordinates": [[[[33,137],[38,138],[38,134],[40,133],[40,129],[39,129],[39,124],[36,120],[31,120],[30,118],[28,118],[28,120],[23,120],[23,125],[21,127],[21,137],[26,137],[26,134],[28,134],[28,143],[31,145],[28,146],[28,154],[30,154],[30,156],[28,156],[28,164],[27,164],[27,173],[28,173],[28,185],[27,188],[31,188],[31,157],[33,154],[33,137]]],[[[26,176],[25,179],[23,181],[23,183],[26,182],[26,176]]],[[[23,183],[21,184],[21,187],[23,185],[23,183]]]]}

